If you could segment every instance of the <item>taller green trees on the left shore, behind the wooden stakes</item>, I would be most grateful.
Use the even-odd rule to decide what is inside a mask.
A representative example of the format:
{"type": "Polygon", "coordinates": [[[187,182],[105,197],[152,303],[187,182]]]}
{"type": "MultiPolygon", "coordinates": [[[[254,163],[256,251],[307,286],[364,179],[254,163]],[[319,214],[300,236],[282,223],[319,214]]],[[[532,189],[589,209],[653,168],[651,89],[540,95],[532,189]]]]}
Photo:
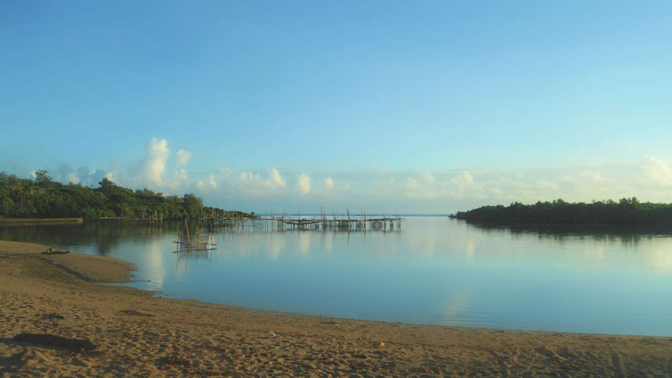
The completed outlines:
{"type": "MultiPolygon", "coordinates": [[[[38,171],[35,180],[0,172],[0,217],[153,217],[164,219],[198,217],[204,207],[195,194],[163,196],[148,189],[130,190],[107,178],[98,188],[61,184],[38,171]]],[[[222,211],[221,209],[215,209],[222,211]]],[[[236,212],[239,213],[239,212],[236,212]]]]}

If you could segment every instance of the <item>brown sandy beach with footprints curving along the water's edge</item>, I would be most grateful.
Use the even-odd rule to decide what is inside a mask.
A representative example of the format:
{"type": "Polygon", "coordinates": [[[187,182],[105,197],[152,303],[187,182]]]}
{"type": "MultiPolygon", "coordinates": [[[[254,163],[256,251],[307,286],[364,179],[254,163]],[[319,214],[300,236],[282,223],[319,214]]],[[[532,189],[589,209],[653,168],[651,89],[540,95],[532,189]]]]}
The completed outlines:
{"type": "Polygon", "coordinates": [[[415,326],[179,301],[99,285],[128,282],[128,262],[44,250],[0,241],[2,377],[672,377],[672,338],[415,326]]]}

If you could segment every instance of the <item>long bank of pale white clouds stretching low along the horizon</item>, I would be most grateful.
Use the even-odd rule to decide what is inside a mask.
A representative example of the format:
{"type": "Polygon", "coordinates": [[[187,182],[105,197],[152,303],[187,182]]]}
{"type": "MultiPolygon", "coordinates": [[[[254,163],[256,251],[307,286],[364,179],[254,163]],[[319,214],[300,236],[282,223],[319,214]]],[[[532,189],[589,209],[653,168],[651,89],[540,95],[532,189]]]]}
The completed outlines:
{"type": "MultiPolygon", "coordinates": [[[[642,201],[672,202],[672,161],[649,155],[638,161],[546,168],[280,172],[275,167],[212,171],[204,167],[200,173],[187,172],[192,153],[179,149],[174,155],[171,159],[168,141],[155,138],[134,161],[112,160],[107,169],[62,164],[47,170],[62,182],[95,186],[106,177],[134,189],[146,187],[166,194],[197,192],[206,198],[226,198],[227,203],[277,204],[281,210],[292,206],[307,209],[312,200],[336,210],[361,206],[368,211],[432,213],[556,198],[589,202],[637,196],[642,201]],[[318,184],[312,186],[310,176],[319,177],[318,184]]],[[[29,168],[17,167],[15,172],[34,177],[35,171],[29,168]]],[[[210,203],[217,205],[216,201],[210,203]]]]}

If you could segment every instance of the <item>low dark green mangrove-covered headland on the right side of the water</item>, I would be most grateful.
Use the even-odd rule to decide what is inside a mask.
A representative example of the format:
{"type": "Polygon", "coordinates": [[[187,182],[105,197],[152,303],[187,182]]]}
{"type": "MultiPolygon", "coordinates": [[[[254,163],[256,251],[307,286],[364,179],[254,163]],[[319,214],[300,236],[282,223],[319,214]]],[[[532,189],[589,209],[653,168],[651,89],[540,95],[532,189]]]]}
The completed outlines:
{"type": "Polygon", "coordinates": [[[537,222],[537,223],[672,223],[672,204],[639,202],[637,198],[585,202],[537,202],[509,206],[482,206],[458,212],[458,219],[478,222],[537,222]]]}

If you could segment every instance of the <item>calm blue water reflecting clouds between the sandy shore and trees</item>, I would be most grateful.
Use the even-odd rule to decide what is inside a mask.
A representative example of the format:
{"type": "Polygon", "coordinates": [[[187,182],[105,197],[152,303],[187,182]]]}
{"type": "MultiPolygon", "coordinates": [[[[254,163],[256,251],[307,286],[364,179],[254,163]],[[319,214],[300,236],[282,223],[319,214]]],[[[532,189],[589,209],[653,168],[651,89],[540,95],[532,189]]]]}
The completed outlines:
{"type": "Polygon", "coordinates": [[[175,298],[388,322],[672,336],[672,232],[407,217],[398,232],[225,229],[217,250],[187,256],[173,253],[178,227],[5,227],[0,239],[132,261],[132,286],[175,298]]]}

